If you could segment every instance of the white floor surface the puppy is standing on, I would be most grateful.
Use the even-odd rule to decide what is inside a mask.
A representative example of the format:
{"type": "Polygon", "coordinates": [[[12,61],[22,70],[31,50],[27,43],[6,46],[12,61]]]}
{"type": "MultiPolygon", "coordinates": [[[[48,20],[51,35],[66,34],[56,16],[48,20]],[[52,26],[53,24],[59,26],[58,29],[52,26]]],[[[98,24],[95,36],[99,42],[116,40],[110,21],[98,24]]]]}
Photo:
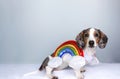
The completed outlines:
{"type": "MultiPolygon", "coordinates": [[[[1,64],[0,79],[48,79],[45,71],[36,71],[39,66],[34,64],[1,64]],[[33,72],[32,75],[30,72],[33,72]],[[23,76],[24,74],[25,76],[23,76]]],[[[71,69],[55,71],[54,74],[59,79],[76,79],[71,69]]],[[[85,79],[120,79],[120,64],[87,66],[84,75],[85,79]]]]}

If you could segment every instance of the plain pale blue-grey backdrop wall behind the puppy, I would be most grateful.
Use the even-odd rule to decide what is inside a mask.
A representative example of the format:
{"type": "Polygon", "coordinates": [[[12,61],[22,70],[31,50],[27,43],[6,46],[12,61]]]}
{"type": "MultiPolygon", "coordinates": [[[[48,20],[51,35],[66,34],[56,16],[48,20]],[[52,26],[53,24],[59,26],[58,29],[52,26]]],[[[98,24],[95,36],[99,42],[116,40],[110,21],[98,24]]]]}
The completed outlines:
{"type": "Polygon", "coordinates": [[[0,63],[41,63],[83,29],[109,38],[101,62],[120,62],[119,0],[0,0],[0,63]]]}

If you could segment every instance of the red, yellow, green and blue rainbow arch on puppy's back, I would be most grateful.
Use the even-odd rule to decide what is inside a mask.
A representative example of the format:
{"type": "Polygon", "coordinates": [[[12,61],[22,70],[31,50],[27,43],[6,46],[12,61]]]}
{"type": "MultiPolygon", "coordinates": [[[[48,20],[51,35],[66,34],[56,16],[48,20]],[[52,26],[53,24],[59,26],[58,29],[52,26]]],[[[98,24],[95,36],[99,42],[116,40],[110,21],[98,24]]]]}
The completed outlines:
{"type": "Polygon", "coordinates": [[[52,57],[63,57],[65,54],[70,54],[71,56],[82,56],[84,57],[83,50],[78,47],[76,41],[69,40],[62,43],[52,54],[52,57]]]}

